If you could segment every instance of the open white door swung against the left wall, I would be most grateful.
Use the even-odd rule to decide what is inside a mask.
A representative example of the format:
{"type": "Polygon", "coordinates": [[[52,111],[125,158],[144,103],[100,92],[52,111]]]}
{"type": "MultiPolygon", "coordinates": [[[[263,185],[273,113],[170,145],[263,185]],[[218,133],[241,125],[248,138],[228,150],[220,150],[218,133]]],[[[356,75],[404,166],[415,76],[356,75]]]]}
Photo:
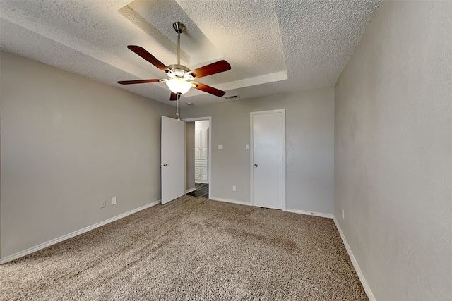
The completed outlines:
{"type": "Polygon", "coordinates": [[[185,122],[162,116],[162,204],[185,195],[185,122]]]}

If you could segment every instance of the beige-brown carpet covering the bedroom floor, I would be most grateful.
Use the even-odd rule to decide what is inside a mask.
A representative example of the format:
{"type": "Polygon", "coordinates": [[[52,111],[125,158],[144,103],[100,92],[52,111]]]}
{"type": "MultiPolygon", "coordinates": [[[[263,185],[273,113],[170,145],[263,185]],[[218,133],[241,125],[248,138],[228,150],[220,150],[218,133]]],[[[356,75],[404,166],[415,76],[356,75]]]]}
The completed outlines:
{"type": "Polygon", "coordinates": [[[1,300],[368,300],[331,219],[181,197],[0,266],[1,300]]]}

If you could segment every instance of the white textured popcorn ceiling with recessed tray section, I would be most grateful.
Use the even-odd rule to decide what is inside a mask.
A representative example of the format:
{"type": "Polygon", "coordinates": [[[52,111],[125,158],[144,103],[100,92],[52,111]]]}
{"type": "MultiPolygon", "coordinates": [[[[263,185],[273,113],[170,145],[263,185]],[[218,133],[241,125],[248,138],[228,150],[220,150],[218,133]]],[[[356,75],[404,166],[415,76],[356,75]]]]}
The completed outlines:
{"type": "MultiPolygon", "coordinates": [[[[0,47],[108,85],[169,102],[165,78],[126,48],[191,70],[225,59],[232,70],[198,80],[240,99],[333,87],[381,0],[1,0],[0,47]]],[[[230,101],[191,89],[182,106],[230,101]]],[[[232,99],[237,100],[237,99],[232,99]]]]}

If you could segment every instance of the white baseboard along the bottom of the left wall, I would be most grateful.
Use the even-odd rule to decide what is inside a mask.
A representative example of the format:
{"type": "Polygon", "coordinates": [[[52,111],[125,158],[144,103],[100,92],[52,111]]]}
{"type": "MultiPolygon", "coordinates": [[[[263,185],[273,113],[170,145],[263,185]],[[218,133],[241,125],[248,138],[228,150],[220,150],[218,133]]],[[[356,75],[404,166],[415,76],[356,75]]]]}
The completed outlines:
{"type": "Polygon", "coordinates": [[[23,257],[25,255],[28,255],[28,254],[34,253],[36,251],[42,250],[45,247],[49,247],[49,246],[54,245],[54,244],[56,244],[58,242],[62,242],[63,240],[67,240],[68,238],[73,238],[74,236],[77,236],[77,235],[80,235],[82,233],[91,231],[91,230],[93,230],[95,228],[99,228],[100,226],[104,226],[107,223],[111,223],[112,221],[117,221],[118,219],[122,219],[122,218],[124,218],[124,217],[126,217],[128,215],[134,214],[134,213],[136,213],[138,211],[141,211],[143,209],[146,209],[146,208],[149,208],[149,207],[153,207],[156,204],[160,204],[160,200],[158,200],[157,202],[152,202],[150,204],[145,204],[144,206],[138,207],[138,208],[133,209],[131,211],[127,211],[127,212],[125,212],[123,214],[119,214],[119,215],[114,216],[114,217],[112,217],[110,219],[106,219],[105,221],[100,221],[99,223],[95,223],[92,226],[88,226],[88,227],[85,227],[83,229],[80,229],[80,230],[77,230],[77,231],[73,231],[72,233],[60,236],[59,238],[55,238],[53,240],[49,240],[48,242],[43,242],[42,244],[37,245],[35,247],[30,247],[27,250],[23,250],[23,251],[17,252],[16,254],[12,254],[12,255],[6,256],[6,257],[0,259],[0,264],[4,264],[6,262],[11,262],[11,260],[18,259],[19,257],[23,257]]]}

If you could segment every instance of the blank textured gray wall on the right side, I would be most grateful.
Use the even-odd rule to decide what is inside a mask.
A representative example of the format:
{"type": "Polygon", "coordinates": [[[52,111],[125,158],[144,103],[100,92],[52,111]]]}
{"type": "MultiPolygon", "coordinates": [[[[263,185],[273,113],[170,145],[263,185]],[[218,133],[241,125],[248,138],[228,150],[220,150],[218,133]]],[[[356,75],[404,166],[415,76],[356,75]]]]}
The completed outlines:
{"type": "Polygon", "coordinates": [[[379,301],[451,300],[451,16],[383,1],[335,86],[335,217],[379,301]]]}

